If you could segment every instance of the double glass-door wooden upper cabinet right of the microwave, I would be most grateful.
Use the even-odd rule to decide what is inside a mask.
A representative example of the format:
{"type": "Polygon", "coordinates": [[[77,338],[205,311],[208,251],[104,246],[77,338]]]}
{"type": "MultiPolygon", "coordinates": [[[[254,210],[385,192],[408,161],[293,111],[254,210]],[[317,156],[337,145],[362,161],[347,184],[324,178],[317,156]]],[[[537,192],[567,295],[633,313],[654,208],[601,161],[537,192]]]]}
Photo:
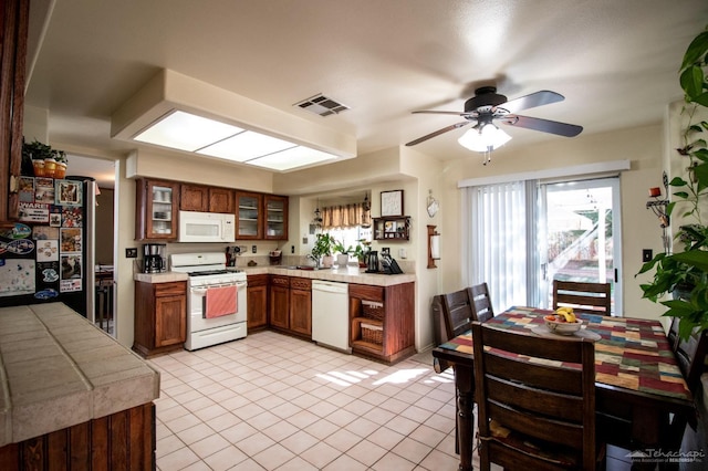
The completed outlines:
{"type": "Polygon", "coordinates": [[[237,240],[288,240],[288,197],[236,191],[237,240]]]}

